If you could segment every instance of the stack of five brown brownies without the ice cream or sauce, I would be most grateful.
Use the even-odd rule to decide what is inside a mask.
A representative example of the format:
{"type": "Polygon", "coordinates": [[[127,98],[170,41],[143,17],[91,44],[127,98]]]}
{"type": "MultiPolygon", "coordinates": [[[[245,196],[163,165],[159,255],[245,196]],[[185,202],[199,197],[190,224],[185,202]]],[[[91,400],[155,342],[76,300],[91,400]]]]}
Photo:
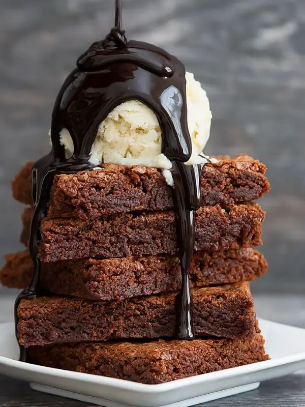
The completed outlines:
{"type": "MultiPolygon", "coordinates": [[[[173,340],[181,285],[172,193],[156,168],[106,164],[57,175],[41,224],[35,300],[21,300],[17,336],[28,361],[142,383],[162,383],[266,360],[249,291],[267,270],[265,213],[252,202],[269,190],[266,167],[246,155],[203,167],[190,269],[197,339],[173,340]],[[162,338],[162,339],[160,339],[162,338]]],[[[32,163],[13,181],[33,209],[32,163]]],[[[33,273],[27,250],[6,256],[9,287],[33,273]]]]}

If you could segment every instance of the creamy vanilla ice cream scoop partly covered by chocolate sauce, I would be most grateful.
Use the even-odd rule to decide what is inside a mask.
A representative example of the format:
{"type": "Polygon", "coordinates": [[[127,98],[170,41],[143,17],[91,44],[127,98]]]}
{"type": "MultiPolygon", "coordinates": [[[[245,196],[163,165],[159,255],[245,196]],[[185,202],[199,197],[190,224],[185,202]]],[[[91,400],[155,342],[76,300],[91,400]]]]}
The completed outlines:
{"type": "MultiPolygon", "coordinates": [[[[186,73],[188,127],[192,139],[192,156],[186,163],[206,162],[200,155],[209,138],[211,112],[209,101],[200,82],[192,73],[186,73]]],[[[60,132],[66,157],[73,154],[73,142],[67,129],[60,132]]],[[[156,114],[139,100],[130,100],[116,106],[100,124],[89,162],[121,165],[144,165],[163,169],[168,184],[173,180],[170,160],[161,153],[162,134],[156,114]]]]}

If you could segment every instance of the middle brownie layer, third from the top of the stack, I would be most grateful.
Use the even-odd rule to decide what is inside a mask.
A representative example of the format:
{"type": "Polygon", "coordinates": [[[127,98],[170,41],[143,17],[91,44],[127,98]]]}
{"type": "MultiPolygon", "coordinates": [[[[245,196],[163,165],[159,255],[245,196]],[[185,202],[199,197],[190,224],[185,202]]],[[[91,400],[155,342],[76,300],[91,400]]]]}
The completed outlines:
{"type": "MultiPolygon", "coordinates": [[[[252,281],[267,271],[264,256],[252,248],[194,253],[191,287],[252,281]]],[[[24,288],[33,274],[27,250],[6,256],[0,281],[24,288]]],[[[40,286],[48,292],[93,300],[119,300],[178,290],[181,271],[175,255],[109,259],[63,260],[42,263],[40,286]]]]}

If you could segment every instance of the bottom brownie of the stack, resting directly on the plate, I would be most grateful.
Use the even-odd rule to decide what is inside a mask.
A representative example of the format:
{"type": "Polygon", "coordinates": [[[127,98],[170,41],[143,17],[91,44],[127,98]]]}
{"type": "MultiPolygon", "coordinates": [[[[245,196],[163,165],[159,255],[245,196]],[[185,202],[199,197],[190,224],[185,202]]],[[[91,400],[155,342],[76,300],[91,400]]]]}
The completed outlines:
{"type": "Polygon", "coordinates": [[[257,333],[250,340],[195,339],[77,343],[29,347],[38,365],[158,384],[269,359],[257,333]]]}

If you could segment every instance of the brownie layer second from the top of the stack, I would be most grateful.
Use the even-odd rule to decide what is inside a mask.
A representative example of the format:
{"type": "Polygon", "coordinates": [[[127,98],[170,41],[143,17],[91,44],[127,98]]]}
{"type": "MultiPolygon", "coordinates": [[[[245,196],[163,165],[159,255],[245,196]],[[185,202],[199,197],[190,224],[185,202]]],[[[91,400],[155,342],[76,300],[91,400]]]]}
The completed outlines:
{"type": "MultiPolygon", "coordinates": [[[[196,211],[195,251],[224,251],[259,246],[265,213],[257,203],[230,210],[219,205],[196,211]]],[[[28,242],[31,211],[23,216],[21,241],[28,242]],[[27,219],[25,220],[25,217],[27,219]]],[[[49,219],[41,222],[39,257],[45,263],[88,257],[173,254],[176,226],[173,211],[103,216],[92,221],[49,219]]]]}

